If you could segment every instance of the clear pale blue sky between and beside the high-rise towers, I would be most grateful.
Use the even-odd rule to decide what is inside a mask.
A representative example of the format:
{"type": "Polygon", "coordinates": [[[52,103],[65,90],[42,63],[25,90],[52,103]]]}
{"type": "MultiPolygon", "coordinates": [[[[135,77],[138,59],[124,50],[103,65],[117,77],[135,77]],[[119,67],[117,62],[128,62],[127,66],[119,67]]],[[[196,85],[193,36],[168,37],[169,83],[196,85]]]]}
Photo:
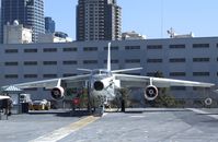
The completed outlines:
{"type": "MultiPolygon", "coordinates": [[[[56,31],[76,39],[78,0],[44,0],[45,16],[56,22],[56,31]]],[[[218,0],[117,0],[122,7],[122,32],[135,31],[147,38],[168,38],[176,34],[195,37],[218,36],[218,0]]]]}

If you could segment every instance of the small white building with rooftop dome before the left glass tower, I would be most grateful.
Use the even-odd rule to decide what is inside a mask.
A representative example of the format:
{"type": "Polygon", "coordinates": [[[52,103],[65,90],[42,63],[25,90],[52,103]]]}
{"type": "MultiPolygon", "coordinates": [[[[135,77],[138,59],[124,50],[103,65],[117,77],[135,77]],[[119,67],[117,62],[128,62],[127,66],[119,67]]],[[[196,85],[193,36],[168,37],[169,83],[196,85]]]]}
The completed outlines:
{"type": "Polygon", "coordinates": [[[3,44],[30,44],[32,34],[32,29],[25,28],[14,21],[13,25],[7,24],[3,27],[3,44]]]}

